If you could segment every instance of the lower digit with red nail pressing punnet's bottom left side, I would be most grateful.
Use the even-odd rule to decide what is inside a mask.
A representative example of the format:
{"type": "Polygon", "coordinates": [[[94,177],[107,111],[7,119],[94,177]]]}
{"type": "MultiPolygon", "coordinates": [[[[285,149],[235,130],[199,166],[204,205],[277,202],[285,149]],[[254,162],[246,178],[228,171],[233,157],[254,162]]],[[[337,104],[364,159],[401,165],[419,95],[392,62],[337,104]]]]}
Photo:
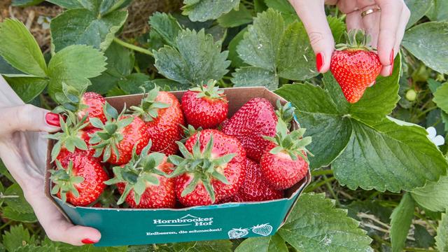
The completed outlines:
{"type": "Polygon", "coordinates": [[[97,243],[101,233],[89,227],[73,225],[64,218],[51,200],[43,195],[43,190],[32,190],[25,194],[34,209],[39,223],[52,241],[62,241],[74,246],[97,243]],[[31,194],[31,195],[30,195],[31,194]]]}

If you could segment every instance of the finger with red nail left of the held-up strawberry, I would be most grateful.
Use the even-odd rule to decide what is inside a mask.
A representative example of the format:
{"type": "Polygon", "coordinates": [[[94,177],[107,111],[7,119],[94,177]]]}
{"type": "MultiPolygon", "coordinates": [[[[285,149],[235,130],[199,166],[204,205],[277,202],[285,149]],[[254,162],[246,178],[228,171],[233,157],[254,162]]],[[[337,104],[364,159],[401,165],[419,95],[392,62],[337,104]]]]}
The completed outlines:
{"type": "Polygon", "coordinates": [[[325,73],[330,69],[335,40],[328,26],[323,0],[290,0],[307,30],[311,47],[316,55],[316,69],[325,73]]]}

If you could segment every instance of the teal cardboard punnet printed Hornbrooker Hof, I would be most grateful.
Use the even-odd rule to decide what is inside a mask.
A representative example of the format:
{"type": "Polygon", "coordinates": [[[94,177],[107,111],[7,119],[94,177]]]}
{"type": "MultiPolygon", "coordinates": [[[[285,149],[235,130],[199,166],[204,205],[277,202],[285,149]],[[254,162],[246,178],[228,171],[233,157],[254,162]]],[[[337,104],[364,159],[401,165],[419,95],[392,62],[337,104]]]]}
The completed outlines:
{"type": "MultiPolygon", "coordinates": [[[[183,91],[173,92],[181,100],[183,91]]],[[[229,117],[254,97],[264,97],[273,105],[286,101],[265,87],[233,87],[225,89],[229,99],[229,117]]],[[[141,94],[109,97],[106,100],[120,111],[137,105],[141,94]]],[[[297,123],[294,125],[298,127],[297,123]]],[[[76,225],[97,228],[102,233],[96,246],[160,244],[212,239],[235,239],[274,235],[286,220],[297,197],[311,181],[309,172],[302,181],[286,191],[286,198],[267,202],[226,203],[185,209],[104,209],[74,207],[50,194],[50,153],[48,142],[45,167],[45,195],[76,225]],[[255,228],[257,225],[262,227],[255,228]]]]}

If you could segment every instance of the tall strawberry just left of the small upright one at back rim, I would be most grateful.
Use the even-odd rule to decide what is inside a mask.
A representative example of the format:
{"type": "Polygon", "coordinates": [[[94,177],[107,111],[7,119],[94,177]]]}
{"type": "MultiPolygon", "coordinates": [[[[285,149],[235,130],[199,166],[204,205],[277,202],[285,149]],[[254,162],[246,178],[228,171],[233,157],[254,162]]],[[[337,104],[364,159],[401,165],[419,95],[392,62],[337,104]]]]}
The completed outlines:
{"type": "Polygon", "coordinates": [[[151,151],[173,155],[179,150],[176,141],[181,140],[185,123],[181,104],[173,94],[159,91],[159,87],[155,86],[142,99],[140,106],[132,106],[131,109],[134,116],[146,122],[153,141],[151,151]]]}

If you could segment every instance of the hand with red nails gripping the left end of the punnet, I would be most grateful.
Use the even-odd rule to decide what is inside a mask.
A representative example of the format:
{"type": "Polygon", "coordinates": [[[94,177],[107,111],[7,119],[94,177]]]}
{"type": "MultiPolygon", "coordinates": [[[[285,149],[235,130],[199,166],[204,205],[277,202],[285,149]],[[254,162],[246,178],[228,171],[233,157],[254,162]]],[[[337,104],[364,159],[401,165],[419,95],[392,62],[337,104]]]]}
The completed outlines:
{"type": "Polygon", "coordinates": [[[59,116],[22,100],[0,76],[0,158],[22,188],[38,221],[53,241],[72,245],[99,241],[94,228],[73,225],[43,193],[46,133],[59,130],[59,116]]]}

